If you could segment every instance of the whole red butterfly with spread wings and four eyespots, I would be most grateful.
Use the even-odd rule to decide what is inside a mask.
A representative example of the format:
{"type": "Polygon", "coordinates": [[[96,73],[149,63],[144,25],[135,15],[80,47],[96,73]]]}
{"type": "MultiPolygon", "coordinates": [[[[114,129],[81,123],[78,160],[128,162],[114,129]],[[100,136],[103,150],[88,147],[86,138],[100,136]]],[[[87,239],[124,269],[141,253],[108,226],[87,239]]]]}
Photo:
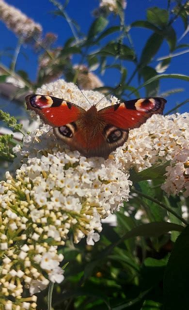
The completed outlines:
{"type": "Polygon", "coordinates": [[[85,110],[64,99],[31,94],[26,97],[27,109],[53,127],[54,134],[86,157],[108,158],[128,138],[130,129],[140,127],[153,114],[162,114],[163,98],[124,101],[101,110],[96,105],[85,110]]]}

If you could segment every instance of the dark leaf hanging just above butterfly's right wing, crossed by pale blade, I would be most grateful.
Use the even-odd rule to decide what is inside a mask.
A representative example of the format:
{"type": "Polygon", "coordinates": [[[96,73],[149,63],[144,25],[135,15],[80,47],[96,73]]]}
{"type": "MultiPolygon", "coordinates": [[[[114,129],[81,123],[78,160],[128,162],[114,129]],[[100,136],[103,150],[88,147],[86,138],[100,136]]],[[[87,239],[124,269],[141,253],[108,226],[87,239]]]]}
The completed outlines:
{"type": "MultiPolygon", "coordinates": [[[[153,78],[157,76],[157,72],[154,68],[146,66],[140,70],[140,74],[143,77],[144,82],[149,78],[153,78]]],[[[146,97],[155,97],[159,91],[159,81],[156,80],[151,84],[145,86],[146,89],[146,97]]]]}

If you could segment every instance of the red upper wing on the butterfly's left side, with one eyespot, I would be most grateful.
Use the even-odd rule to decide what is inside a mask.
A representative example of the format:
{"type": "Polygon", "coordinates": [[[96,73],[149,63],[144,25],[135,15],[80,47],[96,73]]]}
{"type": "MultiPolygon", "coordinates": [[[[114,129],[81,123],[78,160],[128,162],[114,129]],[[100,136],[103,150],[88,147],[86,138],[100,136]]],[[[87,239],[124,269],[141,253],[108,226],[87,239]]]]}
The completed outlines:
{"type": "Polygon", "coordinates": [[[52,96],[32,94],[26,97],[28,109],[34,110],[45,124],[60,127],[75,122],[85,112],[81,107],[52,96]]]}

